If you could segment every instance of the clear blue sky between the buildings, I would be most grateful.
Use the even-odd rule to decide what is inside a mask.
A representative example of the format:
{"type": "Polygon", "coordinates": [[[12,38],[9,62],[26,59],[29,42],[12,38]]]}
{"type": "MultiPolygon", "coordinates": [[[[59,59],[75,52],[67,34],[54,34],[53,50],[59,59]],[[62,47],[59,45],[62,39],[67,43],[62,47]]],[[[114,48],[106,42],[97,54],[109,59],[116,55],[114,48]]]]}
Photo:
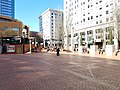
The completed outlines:
{"type": "Polygon", "coordinates": [[[15,18],[39,31],[38,17],[48,8],[63,9],[63,0],[15,0],[15,18]]]}

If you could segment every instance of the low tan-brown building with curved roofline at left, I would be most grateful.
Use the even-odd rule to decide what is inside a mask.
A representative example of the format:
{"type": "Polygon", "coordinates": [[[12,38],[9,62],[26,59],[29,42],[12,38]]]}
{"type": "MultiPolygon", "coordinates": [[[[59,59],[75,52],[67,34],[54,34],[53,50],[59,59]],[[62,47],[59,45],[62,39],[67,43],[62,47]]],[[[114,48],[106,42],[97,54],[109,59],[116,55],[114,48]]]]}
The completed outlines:
{"type": "MultiPolygon", "coordinates": [[[[23,31],[26,31],[25,36],[30,36],[29,26],[24,25],[21,21],[17,19],[13,19],[7,16],[0,16],[0,32],[6,31],[6,30],[13,30],[18,32],[17,36],[22,36],[23,31]]],[[[0,36],[1,37],[1,36],[0,36]]]]}

